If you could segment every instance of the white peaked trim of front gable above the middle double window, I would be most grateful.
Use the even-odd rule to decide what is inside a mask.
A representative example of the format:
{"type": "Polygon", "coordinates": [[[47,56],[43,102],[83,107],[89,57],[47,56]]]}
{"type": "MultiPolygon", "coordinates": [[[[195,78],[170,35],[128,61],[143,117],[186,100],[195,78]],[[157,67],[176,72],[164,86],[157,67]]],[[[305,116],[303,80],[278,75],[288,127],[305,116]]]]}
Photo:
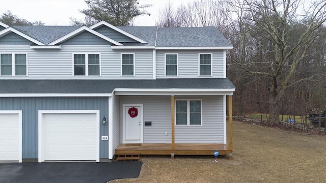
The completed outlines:
{"type": "Polygon", "coordinates": [[[53,41],[53,42],[49,43],[48,45],[52,46],[52,45],[60,44],[60,43],[62,43],[64,41],[66,41],[66,40],[80,34],[80,33],[83,33],[84,31],[90,32],[90,33],[92,33],[92,34],[94,34],[94,35],[96,35],[96,36],[98,36],[98,37],[100,37],[100,38],[102,38],[102,39],[104,39],[104,40],[106,40],[108,42],[111,42],[111,43],[113,43],[115,45],[123,46],[123,44],[121,44],[121,43],[119,43],[119,42],[117,42],[117,41],[115,41],[115,40],[113,40],[111,38],[108,38],[108,37],[94,31],[93,29],[91,29],[91,28],[89,28],[87,26],[82,26],[82,27],[76,29],[75,31],[73,31],[73,32],[71,32],[71,33],[57,39],[56,41],[53,41]]]}

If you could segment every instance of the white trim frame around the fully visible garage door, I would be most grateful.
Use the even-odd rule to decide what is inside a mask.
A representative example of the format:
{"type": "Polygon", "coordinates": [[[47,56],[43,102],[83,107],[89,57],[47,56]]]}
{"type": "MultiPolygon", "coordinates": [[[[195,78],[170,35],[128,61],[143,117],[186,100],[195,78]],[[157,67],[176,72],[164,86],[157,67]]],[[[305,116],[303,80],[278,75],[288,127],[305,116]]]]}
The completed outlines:
{"type": "Polygon", "coordinates": [[[79,114],[79,113],[95,113],[96,114],[96,162],[100,162],[100,110],[39,110],[39,121],[38,121],[38,156],[39,163],[44,162],[44,157],[42,155],[42,123],[43,114],[79,114]]]}

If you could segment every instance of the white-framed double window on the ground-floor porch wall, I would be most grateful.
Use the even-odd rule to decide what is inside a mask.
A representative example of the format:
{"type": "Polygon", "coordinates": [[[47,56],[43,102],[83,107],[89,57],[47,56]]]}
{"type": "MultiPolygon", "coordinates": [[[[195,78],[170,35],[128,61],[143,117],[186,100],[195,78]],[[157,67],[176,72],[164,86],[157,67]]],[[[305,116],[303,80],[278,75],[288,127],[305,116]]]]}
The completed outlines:
{"type": "Polygon", "coordinates": [[[201,100],[176,100],[176,125],[202,125],[201,100]]]}

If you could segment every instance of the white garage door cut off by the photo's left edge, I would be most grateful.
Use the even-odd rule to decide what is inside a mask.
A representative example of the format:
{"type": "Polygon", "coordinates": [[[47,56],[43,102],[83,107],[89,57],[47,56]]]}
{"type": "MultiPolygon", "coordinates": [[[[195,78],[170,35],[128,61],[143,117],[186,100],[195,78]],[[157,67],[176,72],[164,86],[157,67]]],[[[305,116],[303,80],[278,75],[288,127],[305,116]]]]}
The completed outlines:
{"type": "Polygon", "coordinates": [[[21,162],[21,119],[19,115],[21,115],[21,111],[19,113],[0,111],[0,161],[21,162]]]}

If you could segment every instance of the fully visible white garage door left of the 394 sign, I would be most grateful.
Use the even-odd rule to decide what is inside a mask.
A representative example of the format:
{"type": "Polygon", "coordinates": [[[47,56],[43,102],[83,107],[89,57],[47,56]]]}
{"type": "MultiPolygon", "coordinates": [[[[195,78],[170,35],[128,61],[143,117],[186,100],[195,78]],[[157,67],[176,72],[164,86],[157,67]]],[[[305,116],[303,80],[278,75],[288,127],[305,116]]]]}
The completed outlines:
{"type": "Polygon", "coordinates": [[[96,113],[43,114],[43,161],[97,160],[96,113]]]}

